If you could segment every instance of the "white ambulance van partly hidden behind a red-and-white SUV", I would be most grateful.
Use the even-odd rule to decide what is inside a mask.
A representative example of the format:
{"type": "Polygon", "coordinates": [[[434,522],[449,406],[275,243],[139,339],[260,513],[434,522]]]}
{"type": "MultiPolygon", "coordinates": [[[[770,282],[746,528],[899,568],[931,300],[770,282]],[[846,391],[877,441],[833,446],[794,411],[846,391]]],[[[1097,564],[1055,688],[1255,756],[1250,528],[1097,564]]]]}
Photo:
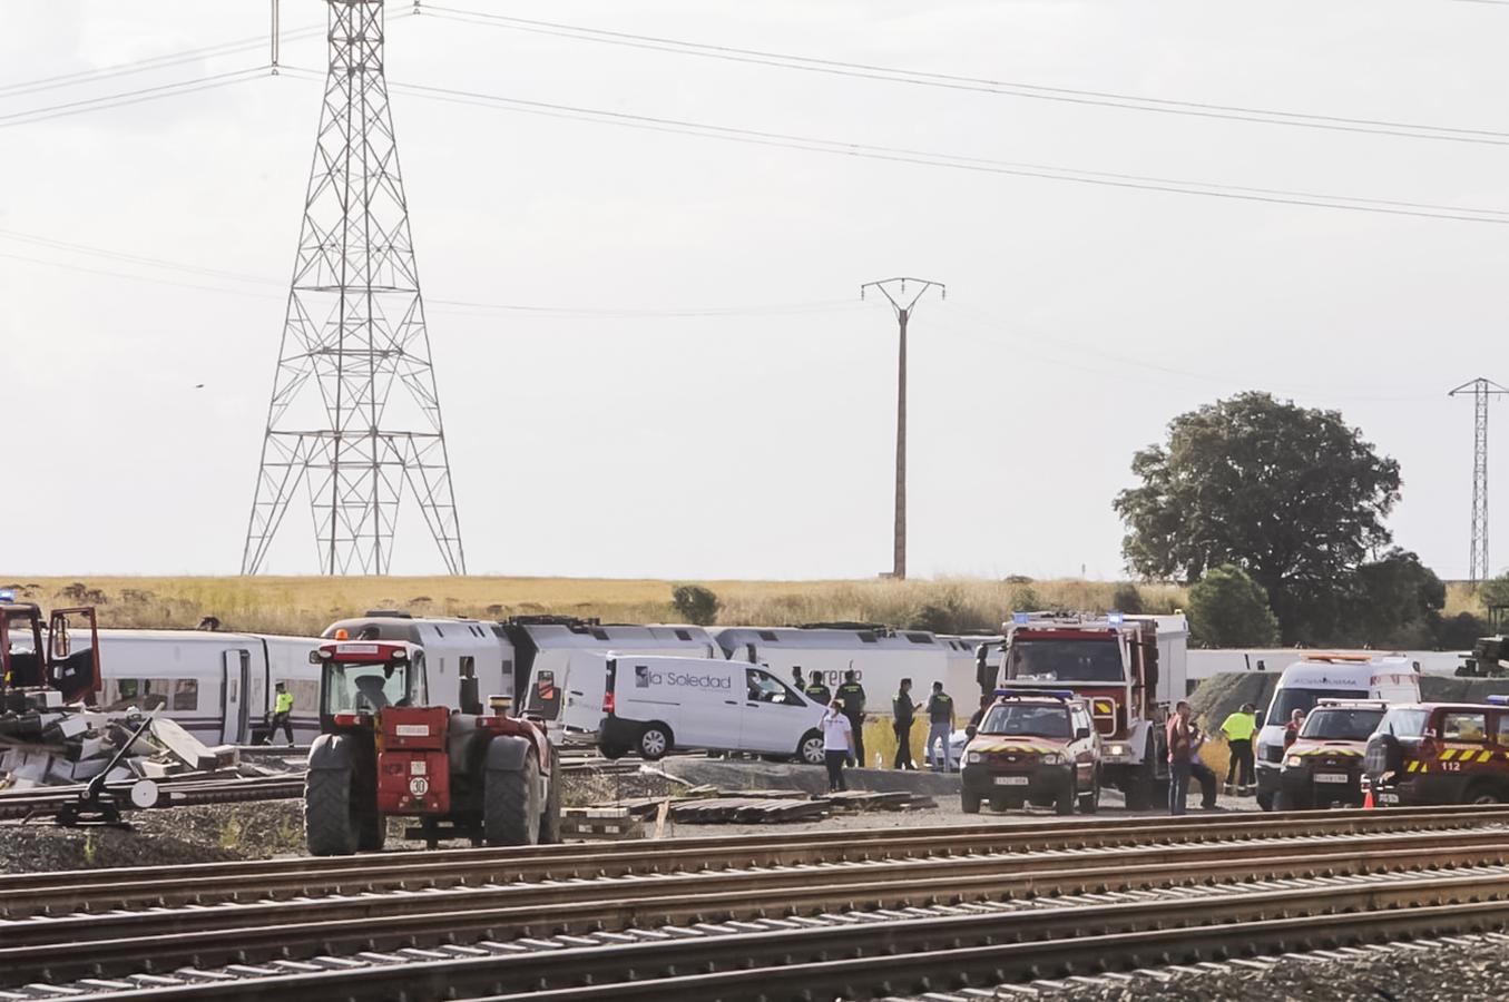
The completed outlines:
{"type": "Polygon", "coordinates": [[[1308,714],[1322,699],[1366,699],[1385,703],[1420,702],[1420,669],[1400,653],[1305,653],[1278,679],[1274,699],[1259,720],[1257,806],[1274,809],[1284,765],[1284,724],[1293,712],[1308,714]]]}

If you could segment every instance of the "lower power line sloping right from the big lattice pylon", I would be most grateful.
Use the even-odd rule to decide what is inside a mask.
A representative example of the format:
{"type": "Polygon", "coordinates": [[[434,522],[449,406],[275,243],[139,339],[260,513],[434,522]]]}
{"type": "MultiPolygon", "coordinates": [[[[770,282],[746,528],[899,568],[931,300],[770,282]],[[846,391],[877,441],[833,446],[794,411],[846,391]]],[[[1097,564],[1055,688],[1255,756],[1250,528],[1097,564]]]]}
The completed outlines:
{"type": "MultiPolygon", "coordinates": [[[[285,68],[296,74],[315,74],[303,68],[285,68]]],[[[1176,178],[1159,178],[1136,174],[1115,174],[1108,171],[1082,171],[1076,168],[1058,168],[1050,164],[1020,163],[1011,160],[993,160],[987,157],[966,157],[958,154],[939,154],[924,149],[908,149],[902,146],[881,146],[874,143],[856,143],[792,133],[774,133],[732,125],[715,125],[706,122],[690,122],[682,119],[659,118],[653,115],[637,115],[628,112],[610,112],[569,104],[552,104],[548,101],[528,101],[522,98],[507,98],[478,91],[462,91],[456,88],[433,88],[426,85],[389,81],[389,89],[401,94],[412,94],[435,101],[451,104],[471,104],[493,107],[498,110],[540,115],[546,118],[563,118],[572,121],[590,121],[598,124],[622,125],[647,131],[675,133],[684,136],[699,136],[703,139],[723,139],[729,142],[753,143],[762,146],[779,146],[785,149],[803,149],[807,152],[827,152],[865,160],[884,160],[892,163],[910,163],[917,166],[948,168],[954,171],[972,171],[979,174],[997,174],[1010,177],[1038,178],[1047,181],[1068,181],[1073,184],[1094,184],[1100,187],[1136,189],[1144,192],[1163,192],[1171,195],[1197,195],[1204,198],[1239,199],[1248,202],[1265,202],[1272,205],[1301,205],[1308,208],[1334,208],[1346,211],[1381,213],[1388,216],[1415,216],[1423,219],[1447,219],[1455,222],[1485,222],[1509,223],[1509,211],[1497,208],[1471,208],[1459,205],[1438,205],[1431,202],[1408,202],[1391,199],[1360,198],[1351,195],[1322,195],[1314,192],[1296,192],[1287,189],[1263,189],[1236,184],[1213,184],[1206,181],[1183,181],[1176,178]]]]}

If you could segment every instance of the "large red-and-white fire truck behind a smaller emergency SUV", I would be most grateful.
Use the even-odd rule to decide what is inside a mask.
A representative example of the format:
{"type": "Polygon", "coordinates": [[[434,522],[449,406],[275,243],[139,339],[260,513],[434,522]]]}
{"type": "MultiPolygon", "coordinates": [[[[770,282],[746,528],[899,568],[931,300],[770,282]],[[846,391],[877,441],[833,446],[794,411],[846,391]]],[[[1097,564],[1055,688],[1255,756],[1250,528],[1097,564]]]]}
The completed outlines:
{"type": "Polygon", "coordinates": [[[1163,724],[1185,697],[1185,617],[1017,613],[1005,634],[1000,684],[1083,699],[1103,739],[1100,782],[1148,809],[1168,783],[1163,724]]]}

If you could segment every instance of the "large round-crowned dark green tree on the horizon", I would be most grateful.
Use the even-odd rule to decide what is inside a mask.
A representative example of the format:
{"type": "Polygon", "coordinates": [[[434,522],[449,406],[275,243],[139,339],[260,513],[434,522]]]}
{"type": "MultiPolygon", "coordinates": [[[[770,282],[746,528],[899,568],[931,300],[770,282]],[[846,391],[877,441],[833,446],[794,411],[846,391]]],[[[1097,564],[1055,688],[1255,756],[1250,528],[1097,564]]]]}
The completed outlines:
{"type": "Polygon", "coordinates": [[[1265,392],[1182,413],[1132,459],[1117,495],[1123,552],[1142,575],[1198,581],[1231,564],[1268,593],[1284,640],[1334,632],[1354,570],[1387,545],[1399,463],[1335,410],[1265,392]]]}

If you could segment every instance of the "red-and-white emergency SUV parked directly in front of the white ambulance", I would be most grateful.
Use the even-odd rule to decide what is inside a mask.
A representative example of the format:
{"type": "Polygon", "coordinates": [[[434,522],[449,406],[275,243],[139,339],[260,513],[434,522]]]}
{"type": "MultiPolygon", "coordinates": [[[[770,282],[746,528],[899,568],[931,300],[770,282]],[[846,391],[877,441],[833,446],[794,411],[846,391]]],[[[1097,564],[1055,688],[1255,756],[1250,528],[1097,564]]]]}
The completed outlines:
{"type": "Polygon", "coordinates": [[[1363,753],[1388,712],[1373,700],[1323,699],[1305,717],[1299,736],[1284,752],[1280,773],[1281,810],[1363,806],[1363,753]]]}

